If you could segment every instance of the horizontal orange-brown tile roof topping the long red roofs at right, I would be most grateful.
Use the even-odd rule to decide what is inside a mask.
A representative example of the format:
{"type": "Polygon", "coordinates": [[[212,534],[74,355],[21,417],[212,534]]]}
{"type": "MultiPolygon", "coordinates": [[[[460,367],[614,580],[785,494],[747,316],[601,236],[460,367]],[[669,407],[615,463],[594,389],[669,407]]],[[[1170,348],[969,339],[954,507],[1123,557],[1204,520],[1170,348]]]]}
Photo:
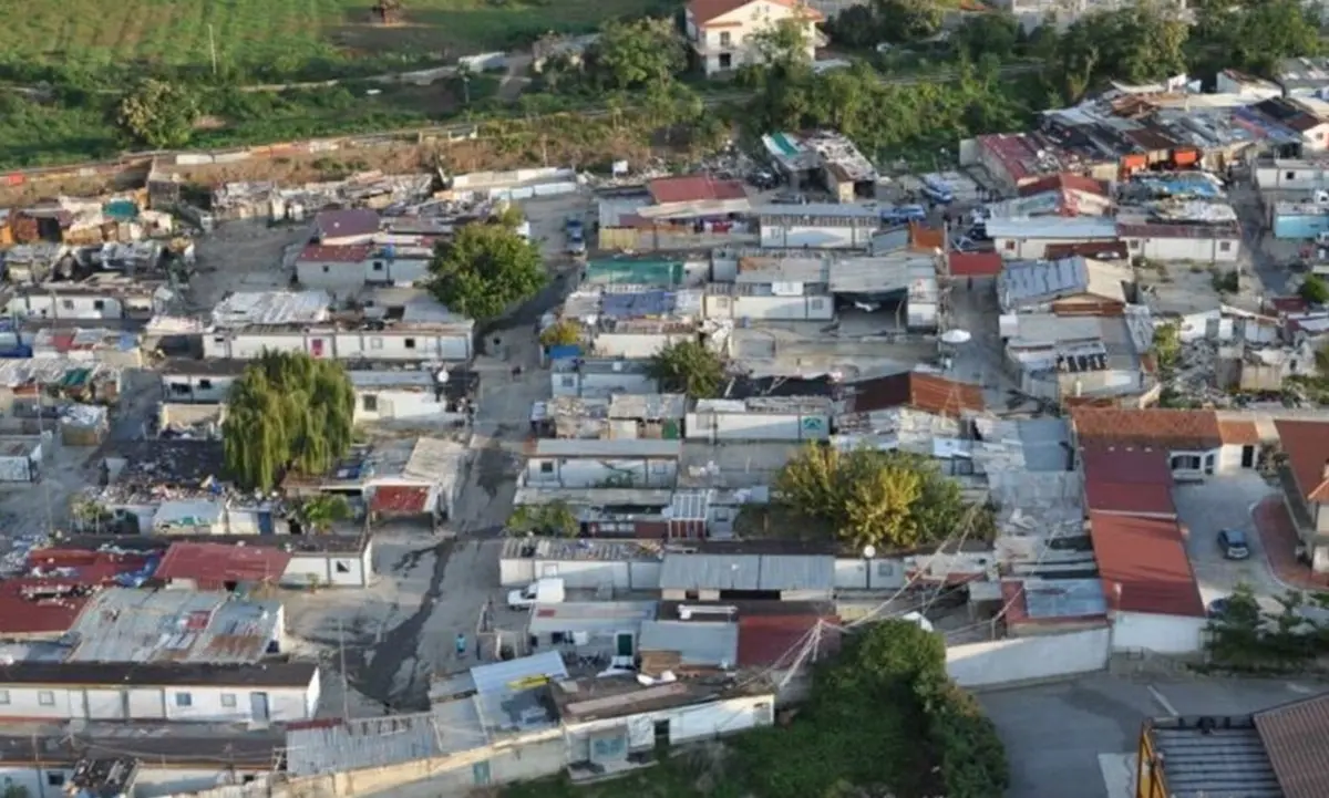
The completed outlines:
{"type": "Polygon", "coordinates": [[[1160,449],[1217,449],[1223,445],[1213,410],[1126,410],[1075,408],[1071,425],[1084,443],[1158,446],[1160,449]]]}

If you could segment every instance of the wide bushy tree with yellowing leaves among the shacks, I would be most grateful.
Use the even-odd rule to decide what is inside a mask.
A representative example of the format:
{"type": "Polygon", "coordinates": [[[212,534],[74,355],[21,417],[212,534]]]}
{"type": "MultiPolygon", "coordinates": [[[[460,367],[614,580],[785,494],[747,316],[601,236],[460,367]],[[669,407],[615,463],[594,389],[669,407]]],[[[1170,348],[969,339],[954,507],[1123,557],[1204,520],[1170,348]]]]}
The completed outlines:
{"type": "Polygon", "coordinates": [[[937,543],[975,524],[989,534],[990,515],[968,507],[960,487],[928,459],[901,451],[807,446],[775,481],[779,503],[805,523],[803,532],[831,534],[855,548],[937,543]]]}

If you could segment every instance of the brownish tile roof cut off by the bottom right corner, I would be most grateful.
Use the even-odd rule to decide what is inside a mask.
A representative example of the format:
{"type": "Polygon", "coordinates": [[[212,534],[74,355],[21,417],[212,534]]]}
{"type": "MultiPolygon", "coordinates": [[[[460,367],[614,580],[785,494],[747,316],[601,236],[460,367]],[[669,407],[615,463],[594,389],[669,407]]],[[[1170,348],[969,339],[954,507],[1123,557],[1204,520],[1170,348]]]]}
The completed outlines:
{"type": "Polygon", "coordinates": [[[1329,785],[1329,693],[1255,714],[1284,798],[1324,798],[1329,785]]]}

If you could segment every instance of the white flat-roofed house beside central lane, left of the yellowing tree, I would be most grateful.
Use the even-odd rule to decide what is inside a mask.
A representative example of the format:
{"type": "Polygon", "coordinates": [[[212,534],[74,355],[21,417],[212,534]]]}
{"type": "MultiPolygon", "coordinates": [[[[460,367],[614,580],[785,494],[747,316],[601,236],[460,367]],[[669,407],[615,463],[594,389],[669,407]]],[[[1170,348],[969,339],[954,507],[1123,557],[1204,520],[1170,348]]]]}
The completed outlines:
{"type": "Polygon", "coordinates": [[[682,441],[541,439],[526,461],[530,487],[674,487],[682,441]]]}

